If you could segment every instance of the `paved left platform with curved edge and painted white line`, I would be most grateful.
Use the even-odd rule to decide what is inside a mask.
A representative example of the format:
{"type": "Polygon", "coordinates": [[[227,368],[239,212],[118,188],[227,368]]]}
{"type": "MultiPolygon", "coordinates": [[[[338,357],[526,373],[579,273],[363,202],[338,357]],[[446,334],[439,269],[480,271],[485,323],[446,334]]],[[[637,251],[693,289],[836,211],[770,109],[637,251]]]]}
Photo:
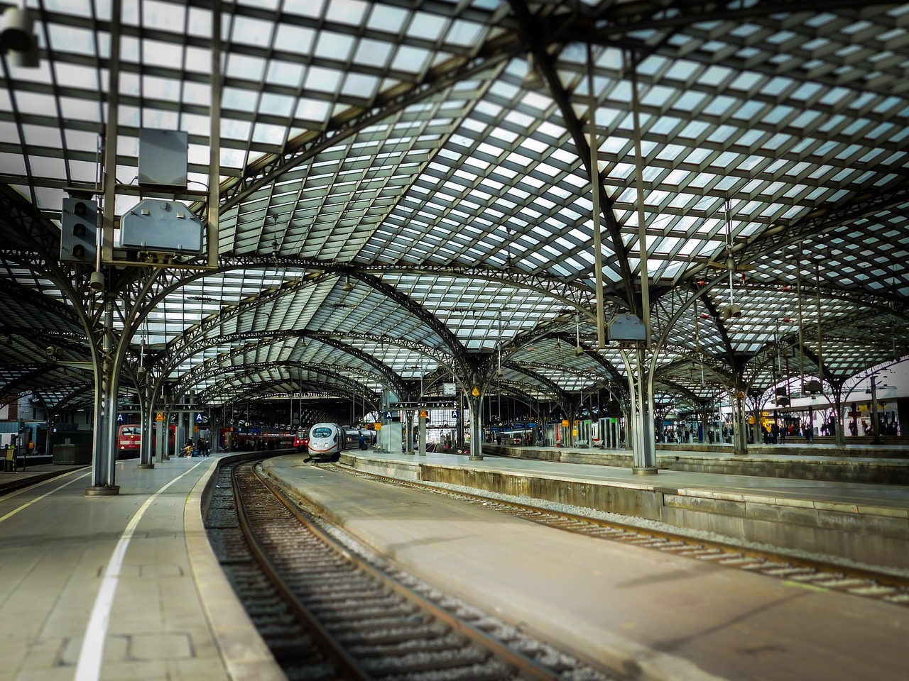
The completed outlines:
{"type": "Polygon", "coordinates": [[[89,469],[0,497],[0,681],[284,678],[205,537],[216,460],[118,461],[113,497],[85,497],[89,469]]]}

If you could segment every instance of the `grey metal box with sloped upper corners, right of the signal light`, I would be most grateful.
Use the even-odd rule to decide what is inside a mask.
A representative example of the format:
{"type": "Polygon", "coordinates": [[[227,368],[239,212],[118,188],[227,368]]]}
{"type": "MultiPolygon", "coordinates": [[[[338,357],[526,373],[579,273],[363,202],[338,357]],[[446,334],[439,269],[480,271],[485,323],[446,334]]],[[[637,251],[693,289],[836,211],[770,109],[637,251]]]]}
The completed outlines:
{"type": "Polygon", "coordinates": [[[120,245],[162,253],[202,252],[202,221],[184,203],[143,199],[120,218],[120,245]]]}

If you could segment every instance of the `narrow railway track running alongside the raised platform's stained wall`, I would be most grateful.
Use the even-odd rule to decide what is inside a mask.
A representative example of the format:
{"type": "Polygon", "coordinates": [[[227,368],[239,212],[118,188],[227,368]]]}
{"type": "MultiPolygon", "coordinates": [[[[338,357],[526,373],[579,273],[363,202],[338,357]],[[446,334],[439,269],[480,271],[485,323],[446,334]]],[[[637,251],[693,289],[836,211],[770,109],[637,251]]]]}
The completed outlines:
{"type": "Polygon", "coordinates": [[[748,570],[814,588],[843,591],[858,597],[874,598],[895,605],[909,606],[909,580],[873,570],[845,568],[824,563],[823,560],[796,558],[782,552],[743,548],[732,543],[692,538],[670,531],[644,529],[634,525],[565,513],[551,508],[484,497],[482,494],[455,491],[412,480],[389,478],[335,463],[318,464],[318,466],[365,479],[374,479],[396,487],[421,489],[439,496],[456,498],[548,527],[564,529],[589,537],[621,541],[635,546],[671,552],[678,556],[712,562],[727,568],[748,570]]]}

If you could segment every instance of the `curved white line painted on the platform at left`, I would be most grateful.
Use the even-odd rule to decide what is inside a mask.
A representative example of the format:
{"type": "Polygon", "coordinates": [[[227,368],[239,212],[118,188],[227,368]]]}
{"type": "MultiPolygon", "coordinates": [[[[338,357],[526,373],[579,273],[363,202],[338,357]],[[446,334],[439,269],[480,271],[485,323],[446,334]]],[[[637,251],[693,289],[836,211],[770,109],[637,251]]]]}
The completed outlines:
{"type": "Polygon", "coordinates": [[[88,626],[85,627],[85,637],[82,639],[82,649],[79,651],[79,662],[75,667],[75,681],[97,681],[98,677],[101,676],[101,658],[105,652],[105,638],[107,637],[107,627],[110,624],[111,608],[114,606],[114,595],[120,578],[120,568],[123,567],[126,548],[129,547],[129,542],[133,538],[136,526],[145,515],[148,507],[165,489],[185,475],[192,473],[202,463],[200,461],[195,464],[193,468],[178,475],[163,488],[158,489],[151,497],[147,498],[142,508],[135,512],[135,516],[129,521],[120,536],[120,540],[114,549],[114,554],[111,556],[110,562],[107,563],[105,576],[102,578],[101,587],[98,589],[98,595],[95,597],[92,617],[89,617],[88,626]]]}

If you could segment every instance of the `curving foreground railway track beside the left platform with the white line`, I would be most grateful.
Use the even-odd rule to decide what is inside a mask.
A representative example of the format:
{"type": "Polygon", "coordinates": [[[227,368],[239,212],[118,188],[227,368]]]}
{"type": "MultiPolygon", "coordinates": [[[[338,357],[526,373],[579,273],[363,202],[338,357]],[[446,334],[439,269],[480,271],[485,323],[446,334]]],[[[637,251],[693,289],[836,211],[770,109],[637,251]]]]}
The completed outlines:
{"type": "Polygon", "coordinates": [[[352,539],[339,543],[254,463],[220,469],[206,528],[290,679],[609,681],[352,539]]]}

